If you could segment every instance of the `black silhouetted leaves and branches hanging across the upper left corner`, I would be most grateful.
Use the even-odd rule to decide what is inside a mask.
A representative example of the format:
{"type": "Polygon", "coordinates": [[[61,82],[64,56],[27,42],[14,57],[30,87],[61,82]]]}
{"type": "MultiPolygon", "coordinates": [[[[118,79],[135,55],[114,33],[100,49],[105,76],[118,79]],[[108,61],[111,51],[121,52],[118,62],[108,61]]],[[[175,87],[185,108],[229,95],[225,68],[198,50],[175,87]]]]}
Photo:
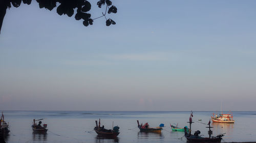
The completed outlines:
{"type": "MultiPolygon", "coordinates": [[[[3,24],[3,20],[6,14],[7,8],[11,8],[11,4],[13,7],[17,8],[20,6],[20,4],[23,2],[24,4],[30,5],[32,0],[0,0],[0,32],[3,24]]],[[[102,16],[99,16],[97,18],[92,19],[91,14],[87,13],[91,10],[91,4],[88,1],[85,0],[36,0],[36,2],[39,4],[39,8],[46,8],[48,10],[53,10],[55,7],[57,7],[57,3],[60,5],[57,7],[57,13],[59,15],[68,15],[71,17],[75,9],[75,19],[80,20],[83,19],[83,25],[88,26],[89,24],[93,24],[93,20],[105,17],[106,19],[106,25],[109,26],[111,24],[116,24],[116,22],[112,19],[106,18],[106,11],[108,10],[108,14],[110,13],[117,13],[117,8],[112,5],[112,2],[110,0],[100,0],[97,5],[99,8],[104,6],[105,4],[105,13],[102,12],[102,16]],[[110,7],[111,6],[111,7],[110,7]]]]}

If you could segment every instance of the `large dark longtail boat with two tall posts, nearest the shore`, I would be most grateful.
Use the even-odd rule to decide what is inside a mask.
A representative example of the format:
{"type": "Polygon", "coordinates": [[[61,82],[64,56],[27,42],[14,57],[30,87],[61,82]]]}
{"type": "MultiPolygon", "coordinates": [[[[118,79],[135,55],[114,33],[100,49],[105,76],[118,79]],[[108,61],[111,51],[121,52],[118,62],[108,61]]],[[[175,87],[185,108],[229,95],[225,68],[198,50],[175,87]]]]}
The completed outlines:
{"type": "Polygon", "coordinates": [[[200,131],[197,130],[194,135],[191,134],[191,124],[194,123],[192,122],[192,117],[193,117],[193,112],[191,111],[190,113],[190,117],[189,117],[189,133],[187,132],[187,128],[184,127],[184,133],[185,133],[185,137],[187,139],[187,142],[221,142],[221,139],[222,139],[222,136],[224,136],[225,133],[223,134],[219,134],[217,136],[211,136],[212,134],[212,131],[210,130],[210,128],[213,128],[213,127],[210,127],[210,121],[208,123],[209,127],[206,127],[206,128],[209,128],[209,131],[208,131],[208,134],[209,134],[209,137],[202,137],[200,135],[200,131]]]}

